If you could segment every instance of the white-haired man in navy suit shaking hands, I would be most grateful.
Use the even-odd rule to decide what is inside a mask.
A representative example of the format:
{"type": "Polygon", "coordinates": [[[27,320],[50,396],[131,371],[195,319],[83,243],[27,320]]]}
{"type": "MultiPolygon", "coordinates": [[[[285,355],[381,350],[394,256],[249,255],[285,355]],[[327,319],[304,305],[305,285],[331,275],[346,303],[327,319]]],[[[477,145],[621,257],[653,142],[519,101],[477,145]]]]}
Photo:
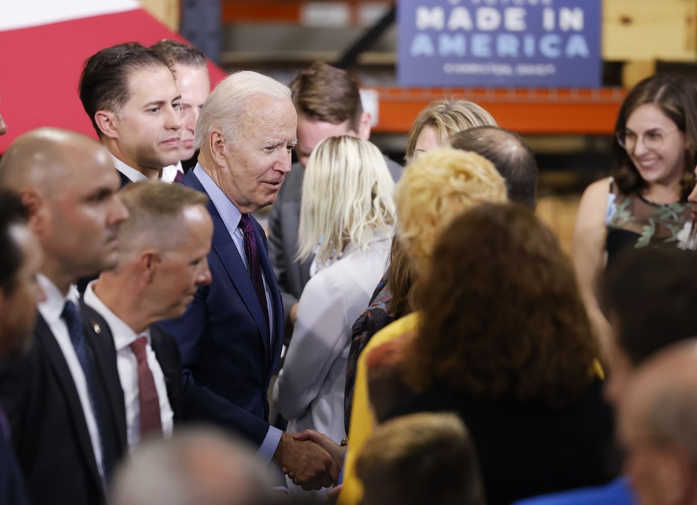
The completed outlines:
{"type": "Polygon", "coordinates": [[[163,326],[179,343],[186,381],[197,386],[185,384],[188,414],[238,432],[260,458],[319,489],[337,478],[330,455],[268,423],[284,317],[266,234],[250,216],[273,204],[290,172],[297,121],[288,87],[254,72],[229,75],[206,100],[195,136],[199,164],[182,182],[210,198],[213,280],[163,326]]]}

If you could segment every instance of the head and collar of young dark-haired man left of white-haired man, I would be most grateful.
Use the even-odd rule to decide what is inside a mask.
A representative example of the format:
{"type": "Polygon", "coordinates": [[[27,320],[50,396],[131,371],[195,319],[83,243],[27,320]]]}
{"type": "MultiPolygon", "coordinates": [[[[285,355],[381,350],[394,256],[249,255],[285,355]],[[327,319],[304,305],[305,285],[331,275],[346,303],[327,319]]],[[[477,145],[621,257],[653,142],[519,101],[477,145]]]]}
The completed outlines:
{"type": "Polygon", "coordinates": [[[82,70],[79,96],[122,186],[160,179],[163,167],[178,163],[181,95],[160,52],[127,43],[93,54],[82,70]]]}

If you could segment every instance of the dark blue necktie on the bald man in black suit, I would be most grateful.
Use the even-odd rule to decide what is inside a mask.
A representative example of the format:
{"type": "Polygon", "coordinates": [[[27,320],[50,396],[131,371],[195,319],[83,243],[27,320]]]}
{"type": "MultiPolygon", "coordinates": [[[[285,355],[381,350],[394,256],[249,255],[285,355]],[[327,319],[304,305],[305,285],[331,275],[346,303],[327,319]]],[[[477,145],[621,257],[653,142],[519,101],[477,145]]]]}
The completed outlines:
{"type": "Polygon", "coordinates": [[[68,326],[70,342],[72,342],[72,347],[75,349],[75,354],[77,354],[77,360],[80,362],[80,366],[85,375],[89,402],[92,407],[92,412],[94,413],[97,429],[99,431],[99,439],[102,445],[102,469],[104,471],[105,483],[108,485],[112,470],[114,469],[114,463],[116,462],[116,453],[113,451],[113,444],[109,443],[113,442],[114,434],[108,433],[107,430],[105,430],[105,416],[108,416],[106,407],[107,399],[96,380],[95,366],[89,349],[87,349],[87,341],[84,328],[82,327],[82,316],[77,310],[75,303],[70,300],[66,301],[66,306],[63,308],[61,318],[66,322],[66,326],[68,326]],[[107,437],[110,437],[109,441],[107,441],[107,437]]]}

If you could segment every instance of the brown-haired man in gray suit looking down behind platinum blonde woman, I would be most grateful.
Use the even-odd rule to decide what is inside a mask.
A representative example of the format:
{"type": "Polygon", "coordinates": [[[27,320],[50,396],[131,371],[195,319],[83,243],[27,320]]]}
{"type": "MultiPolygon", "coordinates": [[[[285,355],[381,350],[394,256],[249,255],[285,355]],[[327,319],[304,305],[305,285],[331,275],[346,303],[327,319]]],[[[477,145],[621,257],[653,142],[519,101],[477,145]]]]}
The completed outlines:
{"type": "MultiPolygon", "coordinates": [[[[317,61],[302,70],[289,86],[298,112],[298,163],[286,174],[268,223],[268,252],[281,289],[286,336],[293,331],[298,299],[309,280],[312,263],[312,259],[296,261],[300,197],[307,160],[314,147],[327,137],[353,135],[364,140],[370,137],[370,113],[360,103],[358,84],[344,70],[317,61]]],[[[401,165],[385,160],[397,181],[401,165]]]]}

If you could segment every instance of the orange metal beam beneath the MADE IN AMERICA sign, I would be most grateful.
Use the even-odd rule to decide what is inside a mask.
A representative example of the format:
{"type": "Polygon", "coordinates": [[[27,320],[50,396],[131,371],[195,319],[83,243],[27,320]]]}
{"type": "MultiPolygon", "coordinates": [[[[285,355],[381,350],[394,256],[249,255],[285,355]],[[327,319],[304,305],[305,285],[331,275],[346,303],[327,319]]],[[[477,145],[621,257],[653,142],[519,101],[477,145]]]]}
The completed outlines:
{"type": "Polygon", "coordinates": [[[500,126],[524,134],[613,133],[626,91],[600,89],[378,88],[376,133],[406,133],[434,100],[464,98],[487,109],[500,126]]]}

